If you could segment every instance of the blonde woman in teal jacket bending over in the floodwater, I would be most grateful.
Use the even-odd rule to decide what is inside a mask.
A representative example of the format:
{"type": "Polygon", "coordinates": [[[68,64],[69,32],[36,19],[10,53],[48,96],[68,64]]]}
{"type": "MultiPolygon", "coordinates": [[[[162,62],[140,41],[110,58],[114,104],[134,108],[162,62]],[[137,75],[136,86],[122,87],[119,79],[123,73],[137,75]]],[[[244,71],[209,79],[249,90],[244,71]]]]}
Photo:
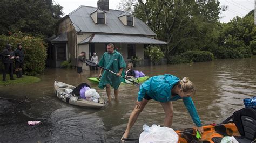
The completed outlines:
{"type": "Polygon", "coordinates": [[[164,126],[166,127],[172,126],[172,101],[183,99],[183,103],[190,113],[193,122],[196,124],[197,130],[200,134],[203,134],[204,130],[202,128],[201,121],[191,98],[195,92],[196,89],[194,84],[188,79],[188,77],[184,77],[182,80],[180,80],[176,76],[165,74],[149,78],[149,80],[140,85],[138,100],[134,110],[130,115],[122,139],[128,137],[130,129],[136,122],[139,113],[142,112],[147,102],[149,102],[151,99],[159,101],[163,106],[165,112],[164,126]]]}

